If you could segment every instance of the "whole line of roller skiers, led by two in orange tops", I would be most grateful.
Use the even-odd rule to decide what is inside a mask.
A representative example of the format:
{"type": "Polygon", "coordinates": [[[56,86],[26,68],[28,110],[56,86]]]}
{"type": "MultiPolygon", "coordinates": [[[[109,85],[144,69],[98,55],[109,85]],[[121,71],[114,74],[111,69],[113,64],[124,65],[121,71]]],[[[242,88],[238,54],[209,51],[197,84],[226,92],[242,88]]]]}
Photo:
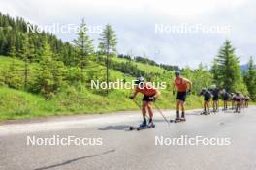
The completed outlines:
{"type": "MultiPolygon", "coordinates": [[[[154,88],[150,83],[145,82],[143,77],[137,78],[137,80],[135,81],[135,85],[135,91],[133,92],[133,94],[131,94],[130,99],[134,99],[138,93],[142,93],[144,95],[144,98],[142,100],[143,123],[140,125],[140,127],[152,127],[154,126],[152,104],[161,94],[159,90],[154,88]],[[149,114],[148,123],[146,121],[146,110],[149,114]]],[[[175,71],[175,79],[173,82],[173,89],[177,90],[175,121],[186,121],[185,101],[187,95],[189,95],[191,92],[191,88],[192,82],[189,79],[181,76],[180,71],[175,71]]],[[[173,91],[173,94],[175,94],[175,91],[173,91]]],[[[216,85],[212,85],[209,89],[203,88],[198,95],[204,97],[204,112],[202,113],[204,115],[210,114],[209,107],[211,99],[213,101],[213,112],[215,113],[219,111],[220,97],[222,97],[224,101],[223,110],[228,110],[229,101],[231,101],[231,109],[234,109],[235,113],[240,113],[241,108],[248,107],[248,96],[243,96],[240,92],[228,94],[224,89],[218,89],[216,85]]]]}

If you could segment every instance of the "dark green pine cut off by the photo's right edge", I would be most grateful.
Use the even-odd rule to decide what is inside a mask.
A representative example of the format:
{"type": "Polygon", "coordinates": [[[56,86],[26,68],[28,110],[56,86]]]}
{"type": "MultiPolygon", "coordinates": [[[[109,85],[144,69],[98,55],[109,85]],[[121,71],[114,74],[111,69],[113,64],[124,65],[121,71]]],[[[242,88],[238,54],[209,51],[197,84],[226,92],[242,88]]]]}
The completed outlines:
{"type": "Polygon", "coordinates": [[[247,86],[250,98],[256,100],[256,67],[252,57],[250,57],[248,62],[248,71],[244,74],[244,82],[247,86]]]}

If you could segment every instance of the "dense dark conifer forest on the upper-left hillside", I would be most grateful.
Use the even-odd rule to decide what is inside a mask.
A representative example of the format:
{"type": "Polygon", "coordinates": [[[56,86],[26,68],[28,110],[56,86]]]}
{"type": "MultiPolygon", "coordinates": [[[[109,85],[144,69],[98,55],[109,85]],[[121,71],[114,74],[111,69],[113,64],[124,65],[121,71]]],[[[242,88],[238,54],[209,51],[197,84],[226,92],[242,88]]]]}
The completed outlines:
{"type": "Polygon", "coordinates": [[[68,42],[62,42],[55,35],[49,33],[27,32],[27,24],[24,19],[12,18],[8,14],[0,13],[0,55],[16,56],[21,58],[23,37],[28,37],[28,43],[34,56],[31,61],[38,62],[42,54],[44,42],[48,42],[57,60],[66,65],[75,65],[76,50],[68,42]]]}

